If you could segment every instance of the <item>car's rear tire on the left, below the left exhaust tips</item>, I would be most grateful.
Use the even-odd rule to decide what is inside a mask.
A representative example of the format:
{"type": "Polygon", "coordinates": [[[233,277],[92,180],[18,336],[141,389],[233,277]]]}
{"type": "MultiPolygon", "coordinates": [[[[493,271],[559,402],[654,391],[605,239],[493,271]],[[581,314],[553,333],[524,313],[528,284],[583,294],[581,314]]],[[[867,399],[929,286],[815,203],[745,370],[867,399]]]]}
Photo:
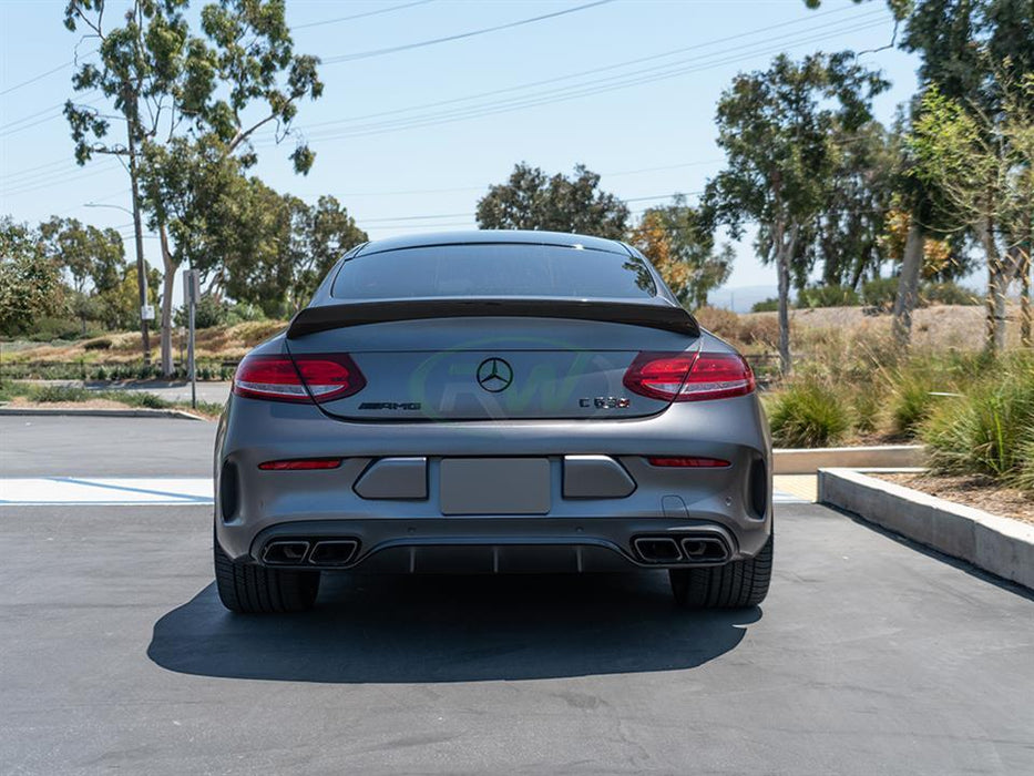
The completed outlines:
{"type": "Polygon", "coordinates": [[[239,614],[304,612],[316,603],[318,571],[267,569],[240,563],[226,554],[218,540],[213,542],[215,586],[219,601],[239,614]]]}

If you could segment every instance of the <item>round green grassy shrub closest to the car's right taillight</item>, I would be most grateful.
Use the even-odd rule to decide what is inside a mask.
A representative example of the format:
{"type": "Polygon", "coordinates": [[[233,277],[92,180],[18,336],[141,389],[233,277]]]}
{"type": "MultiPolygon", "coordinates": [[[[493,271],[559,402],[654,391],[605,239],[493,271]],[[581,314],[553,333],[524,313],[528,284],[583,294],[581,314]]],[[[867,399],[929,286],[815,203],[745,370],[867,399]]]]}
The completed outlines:
{"type": "Polygon", "coordinates": [[[779,447],[828,447],[851,427],[840,395],[818,380],[791,382],[770,400],[772,440],[779,447]]]}

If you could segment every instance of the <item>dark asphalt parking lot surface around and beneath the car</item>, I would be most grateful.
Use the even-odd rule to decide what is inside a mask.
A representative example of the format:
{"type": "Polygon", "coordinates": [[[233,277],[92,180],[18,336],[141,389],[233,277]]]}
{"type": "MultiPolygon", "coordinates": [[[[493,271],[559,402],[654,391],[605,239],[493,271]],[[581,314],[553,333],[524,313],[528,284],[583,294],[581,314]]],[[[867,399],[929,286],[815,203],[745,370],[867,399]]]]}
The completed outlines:
{"type": "Polygon", "coordinates": [[[161,484],[214,430],[0,418],[3,773],[1034,772],[1032,596],[847,515],[784,499],[753,611],[659,573],[339,576],[242,617],[203,491],[161,484]]]}

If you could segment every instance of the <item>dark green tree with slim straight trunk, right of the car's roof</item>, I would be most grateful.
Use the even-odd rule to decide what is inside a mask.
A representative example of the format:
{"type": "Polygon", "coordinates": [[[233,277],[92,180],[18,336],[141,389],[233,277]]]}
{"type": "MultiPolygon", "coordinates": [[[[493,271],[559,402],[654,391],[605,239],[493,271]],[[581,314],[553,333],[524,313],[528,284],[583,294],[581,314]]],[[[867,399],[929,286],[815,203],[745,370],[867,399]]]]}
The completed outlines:
{"type": "Polygon", "coordinates": [[[718,145],[726,169],[704,202],[735,237],[758,224],[761,259],[779,278],[779,356],[790,370],[789,290],[798,241],[822,211],[847,139],[871,120],[872,96],[888,82],[853,54],[780,54],[766,71],[739,74],[718,102],[718,145]]]}

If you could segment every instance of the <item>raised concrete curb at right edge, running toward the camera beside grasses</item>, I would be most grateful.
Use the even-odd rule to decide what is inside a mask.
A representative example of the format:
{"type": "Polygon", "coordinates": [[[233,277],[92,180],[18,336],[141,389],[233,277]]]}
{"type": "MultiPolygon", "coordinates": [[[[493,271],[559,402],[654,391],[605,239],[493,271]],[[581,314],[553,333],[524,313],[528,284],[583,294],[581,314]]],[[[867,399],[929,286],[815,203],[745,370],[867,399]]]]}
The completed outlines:
{"type": "MultiPolygon", "coordinates": [[[[872,469],[870,469],[871,471],[872,469]]],[[[819,469],[819,502],[1034,589],[1034,525],[1000,518],[862,471],[819,469]]]]}

